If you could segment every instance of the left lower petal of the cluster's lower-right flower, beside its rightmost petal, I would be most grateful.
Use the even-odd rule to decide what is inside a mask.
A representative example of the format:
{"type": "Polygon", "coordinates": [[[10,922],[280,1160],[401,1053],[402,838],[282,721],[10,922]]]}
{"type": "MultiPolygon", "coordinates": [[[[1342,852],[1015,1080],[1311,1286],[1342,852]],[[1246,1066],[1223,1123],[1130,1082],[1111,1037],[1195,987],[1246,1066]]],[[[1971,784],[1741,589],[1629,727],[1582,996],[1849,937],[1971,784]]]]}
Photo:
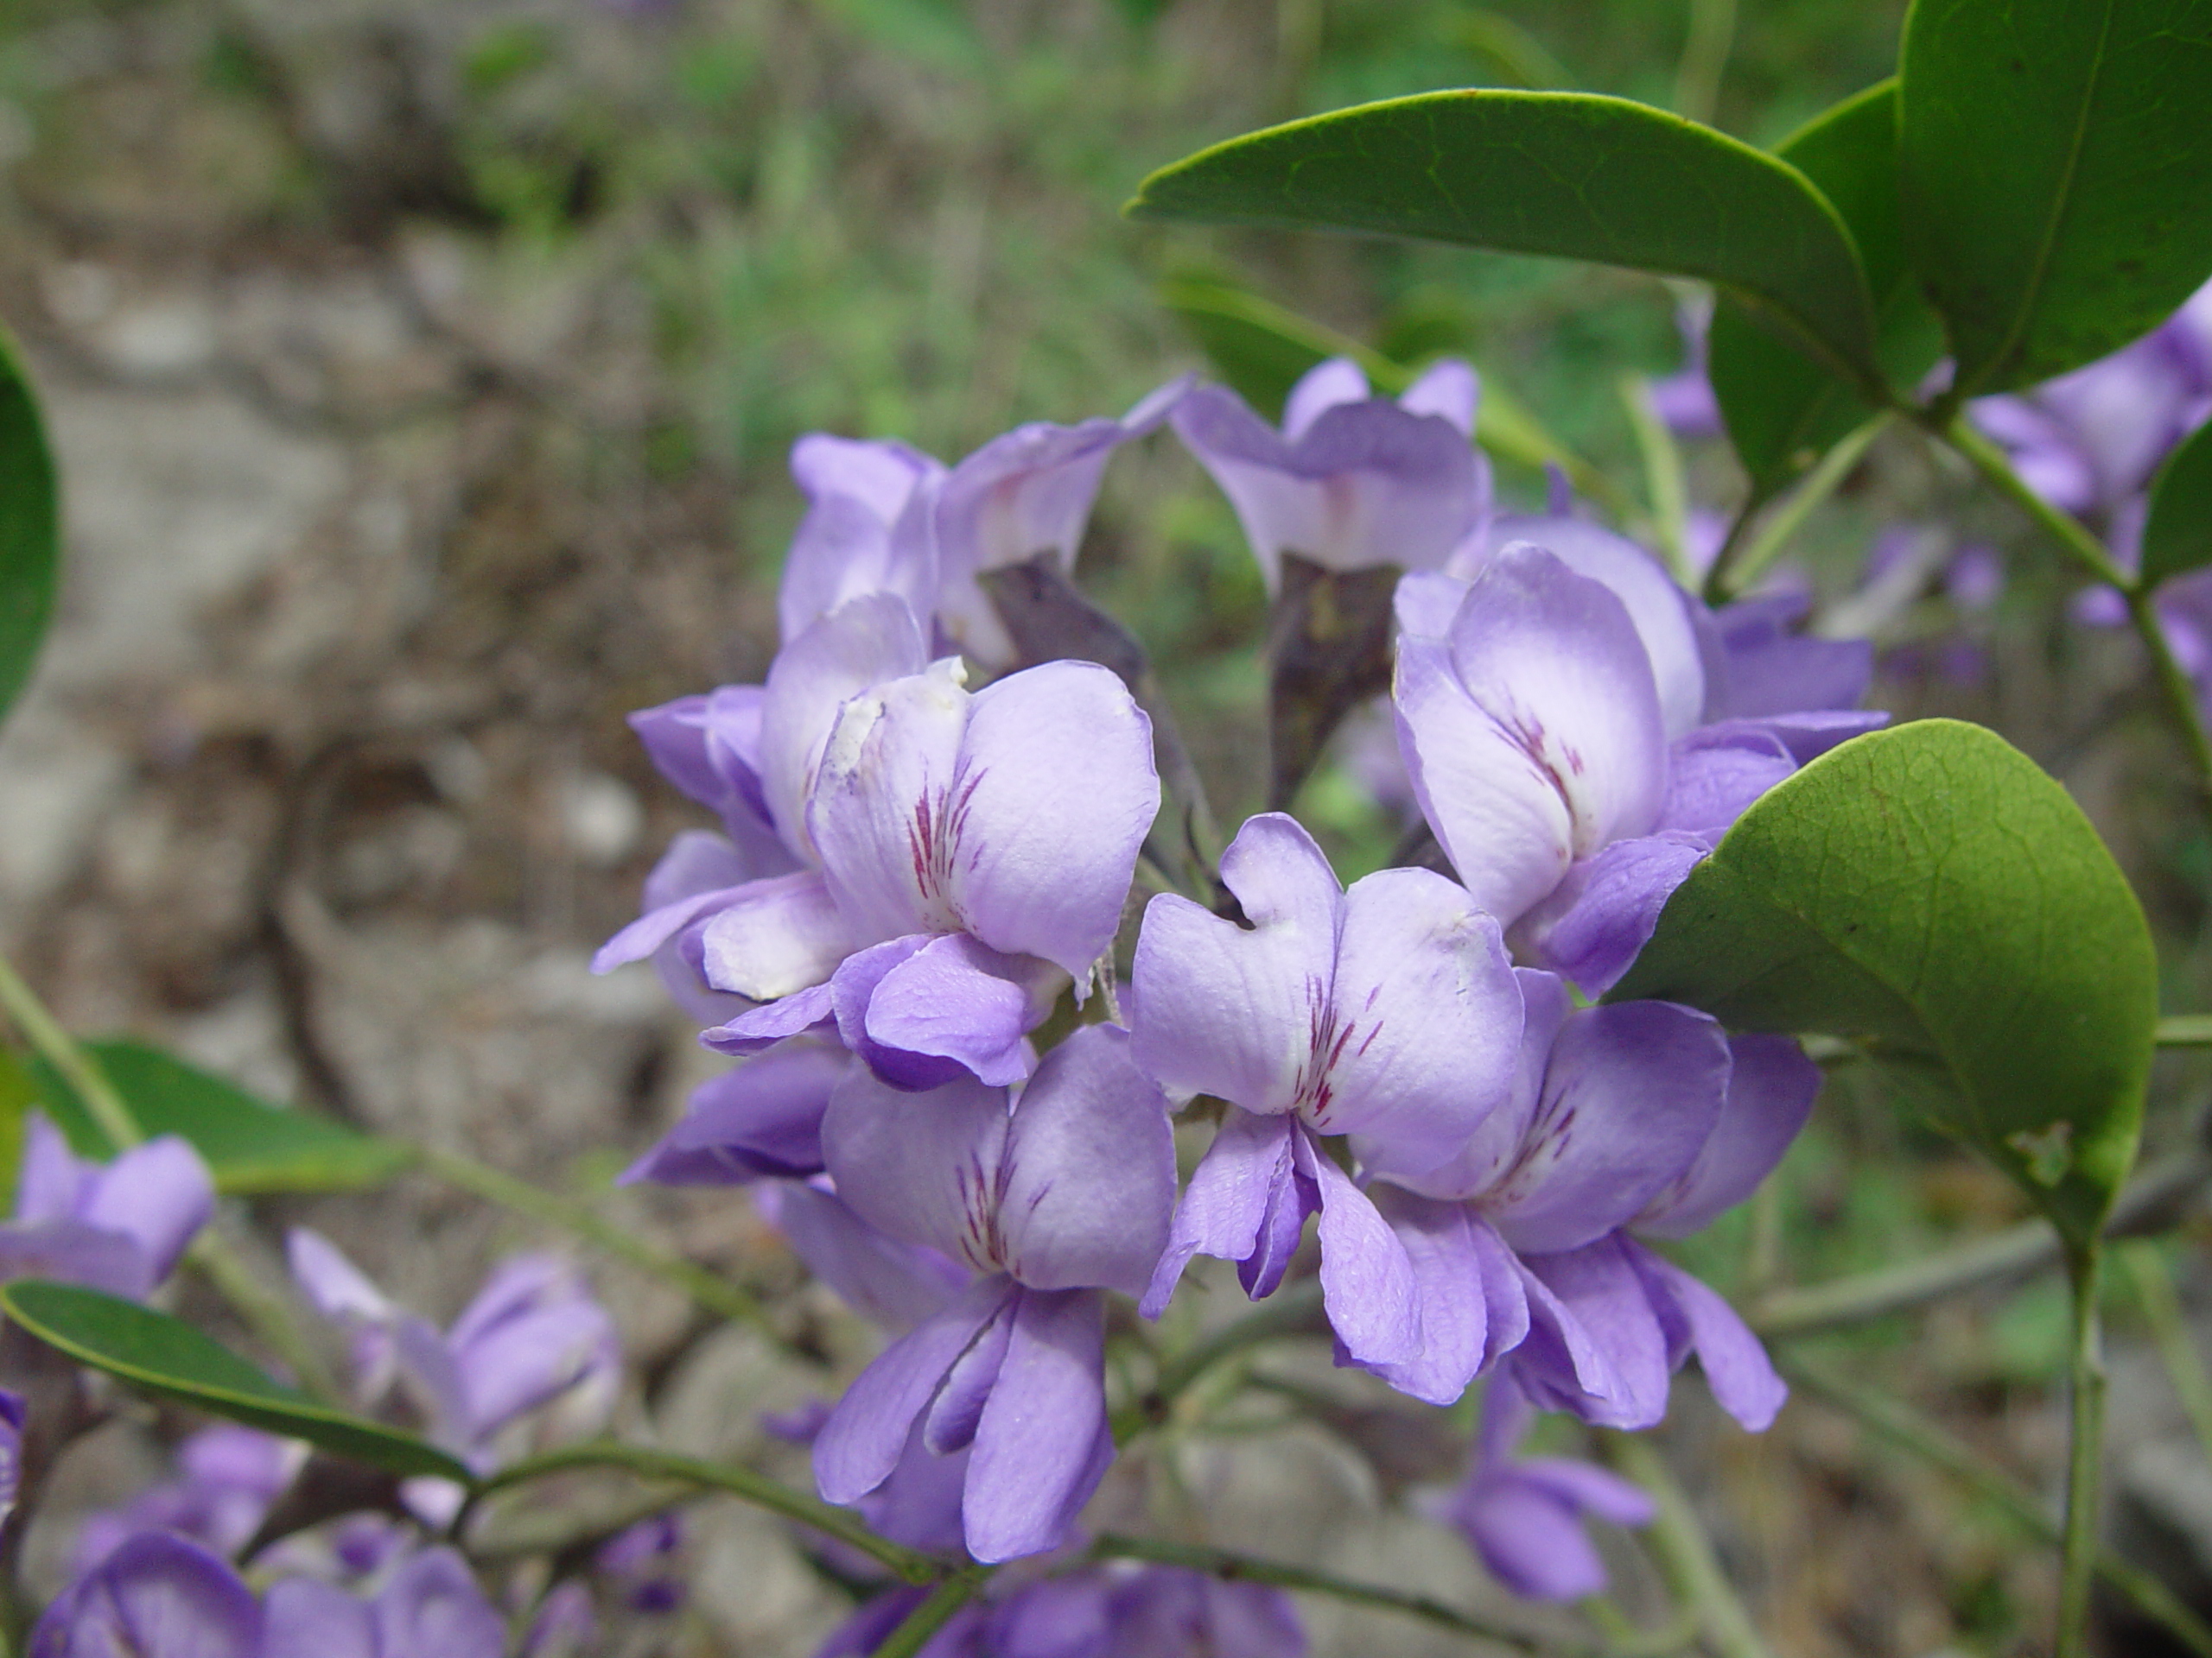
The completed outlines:
{"type": "Polygon", "coordinates": [[[1615,1234],[1522,1258],[1531,1329],[1513,1373],[1537,1406],[1604,1428],[1650,1428],[1666,1415],[1668,1337],[1632,1249],[1615,1234]]]}

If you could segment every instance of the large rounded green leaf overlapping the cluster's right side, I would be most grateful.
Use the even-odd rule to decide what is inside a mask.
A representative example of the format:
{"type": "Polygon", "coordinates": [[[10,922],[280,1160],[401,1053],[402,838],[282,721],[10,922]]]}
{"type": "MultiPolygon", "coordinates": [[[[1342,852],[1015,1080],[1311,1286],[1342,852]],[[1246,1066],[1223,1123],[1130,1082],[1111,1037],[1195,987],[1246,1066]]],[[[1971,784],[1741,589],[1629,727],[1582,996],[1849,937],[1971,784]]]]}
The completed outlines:
{"type": "Polygon", "coordinates": [[[2077,1245],[2135,1163],[2159,1012],[2143,911],[2088,818],[1995,732],[1916,721],[1770,789],[1610,1001],[1863,1041],[2077,1245]]]}

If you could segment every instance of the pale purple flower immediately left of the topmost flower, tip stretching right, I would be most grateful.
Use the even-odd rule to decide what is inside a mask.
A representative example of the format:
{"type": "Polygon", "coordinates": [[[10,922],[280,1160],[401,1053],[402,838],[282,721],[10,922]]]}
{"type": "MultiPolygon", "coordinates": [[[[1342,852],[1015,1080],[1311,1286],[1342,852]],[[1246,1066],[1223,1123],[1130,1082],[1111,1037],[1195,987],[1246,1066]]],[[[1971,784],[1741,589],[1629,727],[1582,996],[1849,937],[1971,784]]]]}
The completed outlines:
{"type": "Polygon", "coordinates": [[[1186,376],[1119,420],[1015,427],[951,469],[936,500],[936,617],[951,643],[993,672],[1015,663],[1013,639],[975,577],[1040,553],[1051,553],[1062,575],[1073,573],[1106,460],[1159,427],[1188,393],[1186,376]]]}

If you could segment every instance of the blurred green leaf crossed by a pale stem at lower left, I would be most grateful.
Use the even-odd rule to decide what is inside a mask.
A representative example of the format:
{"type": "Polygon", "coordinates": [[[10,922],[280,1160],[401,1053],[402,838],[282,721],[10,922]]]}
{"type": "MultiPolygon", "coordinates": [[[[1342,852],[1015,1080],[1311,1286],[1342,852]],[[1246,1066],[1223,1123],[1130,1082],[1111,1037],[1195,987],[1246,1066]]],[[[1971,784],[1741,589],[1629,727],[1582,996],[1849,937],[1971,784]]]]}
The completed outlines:
{"type": "MultiPolygon", "coordinates": [[[[139,1041],[88,1041],[84,1048],[146,1136],[190,1141],[219,1192],[356,1192],[389,1180],[411,1161],[396,1141],[270,1105],[159,1048],[139,1041]]],[[[117,1147],[60,1072],[40,1063],[38,1081],[46,1112],[77,1156],[115,1156],[117,1147]]]]}

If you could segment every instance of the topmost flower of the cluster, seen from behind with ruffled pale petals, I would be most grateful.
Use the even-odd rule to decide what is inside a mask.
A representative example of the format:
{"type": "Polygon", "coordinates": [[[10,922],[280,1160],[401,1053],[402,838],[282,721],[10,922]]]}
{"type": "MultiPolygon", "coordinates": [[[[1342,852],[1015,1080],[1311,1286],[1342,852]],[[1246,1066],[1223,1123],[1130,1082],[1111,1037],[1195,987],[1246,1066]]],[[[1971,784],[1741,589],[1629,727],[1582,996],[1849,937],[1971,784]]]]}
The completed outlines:
{"type": "Polygon", "coordinates": [[[1267,590],[1283,555],[1329,570],[1433,570],[1489,511],[1489,464],[1471,444],[1475,371],[1444,358],[1402,398],[1376,398],[1349,358],[1290,391],[1276,431],[1223,387],[1177,405],[1177,436],[1237,508],[1267,590]]]}

